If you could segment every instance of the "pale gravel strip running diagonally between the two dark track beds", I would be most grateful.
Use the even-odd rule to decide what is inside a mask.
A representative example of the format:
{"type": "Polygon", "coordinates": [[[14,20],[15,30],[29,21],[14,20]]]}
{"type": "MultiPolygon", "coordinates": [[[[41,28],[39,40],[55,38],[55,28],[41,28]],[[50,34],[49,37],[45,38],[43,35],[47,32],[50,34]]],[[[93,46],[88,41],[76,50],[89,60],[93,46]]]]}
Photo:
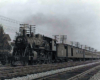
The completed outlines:
{"type": "Polygon", "coordinates": [[[59,73],[59,72],[72,70],[72,69],[75,69],[75,68],[80,68],[80,67],[84,67],[84,66],[93,65],[93,64],[96,64],[96,63],[100,63],[100,61],[99,62],[85,64],[85,65],[79,65],[79,66],[68,67],[68,68],[63,68],[63,69],[51,70],[51,71],[47,71],[47,72],[31,74],[31,75],[27,75],[27,76],[23,76],[23,77],[17,77],[17,78],[13,78],[13,79],[5,79],[5,80],[32,80],[32,79],[48,76],[48,75],[51,75],[51,74],[56,74],[56,73],[59,73]]]}

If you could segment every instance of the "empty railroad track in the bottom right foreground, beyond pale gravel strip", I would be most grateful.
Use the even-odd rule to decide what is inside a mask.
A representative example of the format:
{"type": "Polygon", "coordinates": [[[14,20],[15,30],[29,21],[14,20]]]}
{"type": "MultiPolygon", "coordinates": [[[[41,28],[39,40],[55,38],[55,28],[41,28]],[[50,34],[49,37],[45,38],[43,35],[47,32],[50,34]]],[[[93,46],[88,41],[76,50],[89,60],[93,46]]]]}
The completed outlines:
{"type": "Polygon", "coordinates": [[[90,76],[100,70],[100,64],[88,64],[71,68],[66,68],[62,71],[58,71],[57,74],[40,77],[35,80],[88,80],[90,76]],[[92,72],[92,73],[91,73],[92,72]],[[88,76],[87,76],[88,75],[88,76]]]}

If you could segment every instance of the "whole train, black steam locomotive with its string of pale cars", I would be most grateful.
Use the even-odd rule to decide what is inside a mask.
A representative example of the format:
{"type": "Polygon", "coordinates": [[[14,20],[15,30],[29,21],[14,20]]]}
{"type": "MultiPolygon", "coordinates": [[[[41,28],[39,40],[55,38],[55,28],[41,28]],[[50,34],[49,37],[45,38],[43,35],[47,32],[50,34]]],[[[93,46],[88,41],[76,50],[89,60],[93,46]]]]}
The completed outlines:
{"type": "MultiPolygon", "coordinates": [[[[8,52],[10,51],[9,49],[8,52]]],[[[92,51],[57,43],[55,39],[50,37],[34,34],[32,26],[21,25],[14,41],[12,55],[7,56],[2,61],[8,61],[11,65],[15,65],[16,62],[20,62],[22,65],[33,65],[37,63],[93,60],[99,58],[100,55],[92,51]]]]}

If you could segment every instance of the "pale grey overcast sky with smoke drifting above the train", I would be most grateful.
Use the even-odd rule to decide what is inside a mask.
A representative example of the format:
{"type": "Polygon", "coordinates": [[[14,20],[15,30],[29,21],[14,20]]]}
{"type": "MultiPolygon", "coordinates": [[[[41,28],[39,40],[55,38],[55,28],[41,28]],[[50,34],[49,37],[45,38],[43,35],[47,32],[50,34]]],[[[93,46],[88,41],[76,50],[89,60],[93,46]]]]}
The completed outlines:
{"type": "Polygon", "coordinates": [[[67,35],[67,43],[100,51],[100,0],[0,0],[0,22],[12,39],[19,24],[28,23],[36,33],[67,35]]]}

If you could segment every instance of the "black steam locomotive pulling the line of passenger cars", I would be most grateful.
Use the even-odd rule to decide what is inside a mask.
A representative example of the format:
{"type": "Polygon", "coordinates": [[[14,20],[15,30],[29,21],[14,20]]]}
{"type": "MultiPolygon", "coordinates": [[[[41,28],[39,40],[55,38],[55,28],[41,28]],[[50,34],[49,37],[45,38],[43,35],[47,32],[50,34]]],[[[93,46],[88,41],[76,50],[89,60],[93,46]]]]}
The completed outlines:
{"type": "Polygon", "coordinates": [[[21,61],[23,65],[48,63],[55,59],[56,41],[52,38],[35,34],[33,27],[21,25],[15,39],[11,64],[21,61]]]}

